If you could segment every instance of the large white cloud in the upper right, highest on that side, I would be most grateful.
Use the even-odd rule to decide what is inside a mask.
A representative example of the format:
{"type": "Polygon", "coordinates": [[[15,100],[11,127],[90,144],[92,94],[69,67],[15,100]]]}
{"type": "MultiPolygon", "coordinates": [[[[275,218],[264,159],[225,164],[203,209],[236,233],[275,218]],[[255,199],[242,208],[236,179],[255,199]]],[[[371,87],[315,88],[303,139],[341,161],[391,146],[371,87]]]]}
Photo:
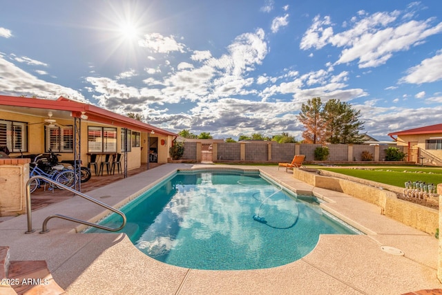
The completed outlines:
{"type": "Polygon", "coordinates": [[[300,48],[318,50],[326,45],[343,48],[335,64],[358,60],[359,68],[369,68],[385,64],[393,53],[418,46],[427,37],[442,32],[442,23],[433,25],[432,18],[401,23],[398,21],[401,13],[397,10],[372,15],[360,12],[358,17],[352,18],[352,26],[348,30],[336,34],[331,18],[318,15],[302,36],[300,48]]]}

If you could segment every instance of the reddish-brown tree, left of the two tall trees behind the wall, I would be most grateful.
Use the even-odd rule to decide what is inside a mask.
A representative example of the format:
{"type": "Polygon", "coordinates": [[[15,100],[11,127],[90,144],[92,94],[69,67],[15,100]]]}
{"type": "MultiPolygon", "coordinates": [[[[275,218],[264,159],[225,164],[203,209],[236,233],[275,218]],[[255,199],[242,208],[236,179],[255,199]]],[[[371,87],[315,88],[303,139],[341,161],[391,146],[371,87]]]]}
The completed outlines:
{"type": "Polygon", "coordinates": [[[323,103],[320,97],[314,97],[302,104],[298,120],[304,124],[305,131],[302,132],[302,138],[306,143],[317,144],[324,142],[324,119],[323,103]]]}

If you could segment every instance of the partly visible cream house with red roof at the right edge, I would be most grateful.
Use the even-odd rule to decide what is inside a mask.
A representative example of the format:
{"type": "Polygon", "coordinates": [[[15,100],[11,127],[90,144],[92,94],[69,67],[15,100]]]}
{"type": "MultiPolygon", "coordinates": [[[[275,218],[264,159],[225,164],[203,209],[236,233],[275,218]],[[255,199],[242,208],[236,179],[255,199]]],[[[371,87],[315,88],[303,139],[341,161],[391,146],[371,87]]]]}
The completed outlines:
{"type": "Polygon", "coordinates": [[[442,124],[392,132],[388,135],[398,146],[407,146],[409,161],[442,166],[442,124]]]}

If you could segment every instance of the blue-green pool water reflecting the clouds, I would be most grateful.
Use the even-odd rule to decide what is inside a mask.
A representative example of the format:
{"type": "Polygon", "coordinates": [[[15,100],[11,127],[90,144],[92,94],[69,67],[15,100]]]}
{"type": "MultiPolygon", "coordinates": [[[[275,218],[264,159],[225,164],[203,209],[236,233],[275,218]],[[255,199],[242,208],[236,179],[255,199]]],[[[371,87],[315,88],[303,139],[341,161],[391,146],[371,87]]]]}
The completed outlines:
{"type": "MultiPolygon", "coordinates": [[[[258,172],[181,171],[122,211],[122,232],[140,251],[193,269],[276,267],[308,254],[320,234],[358,234],[316,198],[296,196],[258,172]]],[[[113,214],[100,223],[120,219],[113,214]]]]}

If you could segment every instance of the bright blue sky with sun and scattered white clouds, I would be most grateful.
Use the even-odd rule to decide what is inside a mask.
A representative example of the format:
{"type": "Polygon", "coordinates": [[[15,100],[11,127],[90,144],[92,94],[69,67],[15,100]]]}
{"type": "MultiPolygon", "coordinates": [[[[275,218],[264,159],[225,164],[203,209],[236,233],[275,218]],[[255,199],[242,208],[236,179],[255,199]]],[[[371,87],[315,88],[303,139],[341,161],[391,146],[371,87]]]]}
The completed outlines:
{"type": "Polygon", "coordinates": [[[440,124],[440,0],[0,0],[0,95],[140,113],[216,139],[289,133],[313,97],[361,133],[440,124]]]}

